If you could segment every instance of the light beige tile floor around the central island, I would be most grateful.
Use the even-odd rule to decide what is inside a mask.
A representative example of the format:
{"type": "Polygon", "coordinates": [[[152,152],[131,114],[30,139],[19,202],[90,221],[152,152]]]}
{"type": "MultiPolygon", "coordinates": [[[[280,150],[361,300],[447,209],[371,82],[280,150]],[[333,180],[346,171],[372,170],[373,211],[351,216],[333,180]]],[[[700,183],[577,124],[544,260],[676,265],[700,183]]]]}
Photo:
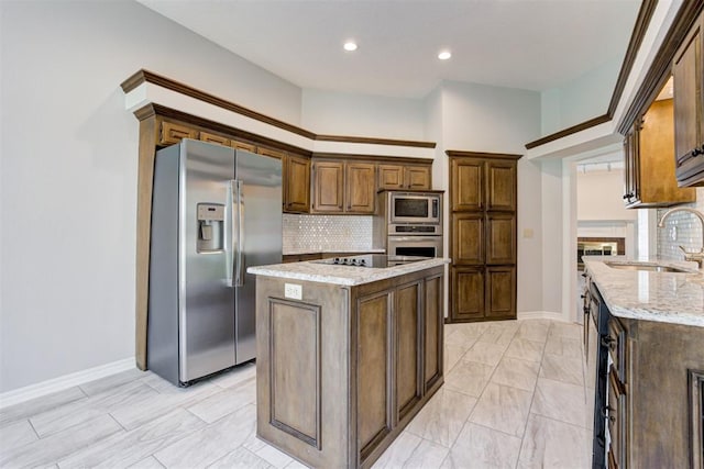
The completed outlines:
{"type": "MultiPolygon", "coordinates": [[[[0,468],[300,468],[255,437],[255,368],[123,372],[0,411],[0,468]]],[[[581,327],[446,326],[446,384],[374,468],[587,468],[581,327]]]]}

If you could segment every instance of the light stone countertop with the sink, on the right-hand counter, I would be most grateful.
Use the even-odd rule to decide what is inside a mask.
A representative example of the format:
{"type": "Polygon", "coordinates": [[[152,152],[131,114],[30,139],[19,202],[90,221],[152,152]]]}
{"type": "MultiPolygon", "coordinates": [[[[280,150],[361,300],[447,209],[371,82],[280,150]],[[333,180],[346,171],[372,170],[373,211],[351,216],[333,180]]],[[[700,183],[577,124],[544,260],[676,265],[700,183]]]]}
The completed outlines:
{"type": "Polygon", "coordinates": [[[584,256],[584,266],[613,315],[704,327],[704,272],[696,264],[625,256],[584,256]],[[688,272],[615,269],[604,263],[657,264],[688,272]]]}

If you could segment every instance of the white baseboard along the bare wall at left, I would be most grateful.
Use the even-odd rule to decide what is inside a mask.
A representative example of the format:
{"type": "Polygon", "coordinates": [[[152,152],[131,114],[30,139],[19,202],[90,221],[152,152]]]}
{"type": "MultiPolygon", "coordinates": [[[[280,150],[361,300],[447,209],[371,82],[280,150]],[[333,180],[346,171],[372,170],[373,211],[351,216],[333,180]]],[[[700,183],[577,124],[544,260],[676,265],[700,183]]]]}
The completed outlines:
{"type": "Polygon", "coordinates": [[[37,382],[36,384],[3,392],[0,394],[0,409],[19,404],[31,399],[41,398],[53,392],[63,391],[65,389],[73,388],[74,386],[105,378],[110,375],[128,371],[135,367],[135,358],[130,357],[123,360],[113,361],[111,364],[37,382]]]}

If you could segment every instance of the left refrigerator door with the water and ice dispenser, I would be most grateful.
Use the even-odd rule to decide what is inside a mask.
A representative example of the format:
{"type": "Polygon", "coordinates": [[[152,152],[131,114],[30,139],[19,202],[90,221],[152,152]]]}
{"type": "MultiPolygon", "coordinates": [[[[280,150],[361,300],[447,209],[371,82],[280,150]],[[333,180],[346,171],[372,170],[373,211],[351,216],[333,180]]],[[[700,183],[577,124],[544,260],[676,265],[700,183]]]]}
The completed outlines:
{"type": "Polygon", "coordinates": [[[197,209],[199,204],[227,206],[234,150],[184,139],[179,171],[179,380],[187,382],[235,364],[235,290],[227,281],[231,243],[227,223],[219,224],[222,250],[197,249],[202,234],[197,209]]]}

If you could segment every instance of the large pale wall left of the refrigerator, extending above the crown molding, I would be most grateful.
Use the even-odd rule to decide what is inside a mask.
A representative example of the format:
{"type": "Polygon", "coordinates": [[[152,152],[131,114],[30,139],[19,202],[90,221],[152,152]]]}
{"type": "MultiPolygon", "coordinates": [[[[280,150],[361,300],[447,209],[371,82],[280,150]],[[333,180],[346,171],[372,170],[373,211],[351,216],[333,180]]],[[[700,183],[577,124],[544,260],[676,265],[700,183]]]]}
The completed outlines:
{"type": "Polygon", "coordinates": [[[300,90],[134,2],[0,2],[0,392],[134,355],[140,68],[297,123],[300,90]]]}

